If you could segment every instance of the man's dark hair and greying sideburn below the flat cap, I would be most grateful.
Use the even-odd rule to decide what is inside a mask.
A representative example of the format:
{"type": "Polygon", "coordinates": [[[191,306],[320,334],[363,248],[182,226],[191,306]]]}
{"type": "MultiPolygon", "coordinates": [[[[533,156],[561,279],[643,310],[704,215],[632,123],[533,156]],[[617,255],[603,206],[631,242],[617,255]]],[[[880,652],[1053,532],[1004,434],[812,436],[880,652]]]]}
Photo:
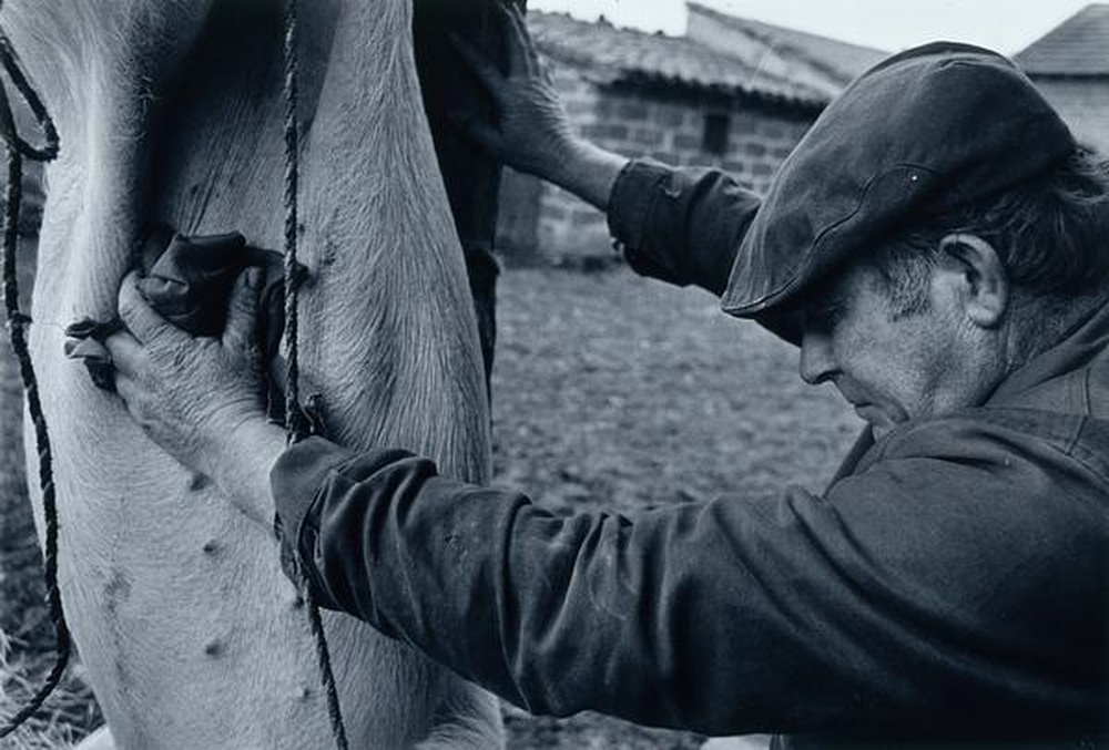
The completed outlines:
{"type": "Polygon", "coordinates": [[[1015,295],[1041,314],[1065,314],[1076,299],[1109,288],[1109,160],[1080,146],[995,198],[910,220],[863,259],[883,280],[895,318],[927,309],[939,240],[956,233],[994,247],[1015,295]]]}

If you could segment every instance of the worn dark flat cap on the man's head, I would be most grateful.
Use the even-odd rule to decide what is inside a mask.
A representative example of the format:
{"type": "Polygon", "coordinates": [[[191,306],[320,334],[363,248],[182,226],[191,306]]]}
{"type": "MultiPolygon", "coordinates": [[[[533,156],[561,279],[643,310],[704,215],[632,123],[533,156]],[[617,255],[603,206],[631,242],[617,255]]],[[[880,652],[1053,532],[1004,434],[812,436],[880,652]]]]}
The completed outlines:
{"type": "Polygon", "coordinates": [[[1075,147],[1031,81],[996,52],[936,42],[888,58],[852,82],[782,164],[722,307],[773,318],[914,217],[997,195],[1075,147]]]}

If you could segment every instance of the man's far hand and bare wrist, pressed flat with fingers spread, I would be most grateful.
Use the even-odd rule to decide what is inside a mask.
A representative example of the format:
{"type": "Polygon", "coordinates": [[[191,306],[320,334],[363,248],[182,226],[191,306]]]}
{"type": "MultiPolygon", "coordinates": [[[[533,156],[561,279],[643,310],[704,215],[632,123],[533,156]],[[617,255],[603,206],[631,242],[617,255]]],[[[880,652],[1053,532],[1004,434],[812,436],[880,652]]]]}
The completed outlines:
{"type": "Polygon", "coordinates": [[[477,109],[456,111],[454,120],[498,161],[607,208],[612,183],[628,160],[574,134],[523,13],[515,4],[495,6],[508,48],[507,72],[466,40],[452,39],[462,62],[492,99],[497,120],[488,122],[477,109]]]}

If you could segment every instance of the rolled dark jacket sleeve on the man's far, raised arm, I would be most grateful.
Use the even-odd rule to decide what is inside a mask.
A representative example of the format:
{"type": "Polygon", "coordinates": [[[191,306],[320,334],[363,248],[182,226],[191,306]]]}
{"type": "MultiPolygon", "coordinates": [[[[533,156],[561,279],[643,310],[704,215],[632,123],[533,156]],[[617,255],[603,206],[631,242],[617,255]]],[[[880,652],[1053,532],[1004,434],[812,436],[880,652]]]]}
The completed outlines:
{"type": "Polygon", "coordinates": [[[632,161],[612,186],[609,230],[639,274],[721,296],[759,206],[723,172],[632,161]]]}

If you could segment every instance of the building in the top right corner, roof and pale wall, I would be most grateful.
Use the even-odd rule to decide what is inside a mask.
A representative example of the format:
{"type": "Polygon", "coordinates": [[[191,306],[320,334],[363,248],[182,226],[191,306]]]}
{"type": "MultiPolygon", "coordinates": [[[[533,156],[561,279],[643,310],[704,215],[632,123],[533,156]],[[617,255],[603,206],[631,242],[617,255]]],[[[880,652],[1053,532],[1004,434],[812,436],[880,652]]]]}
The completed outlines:
{"type": "Polygon", "coordinates": [[[1079,141],[1109,154],[1109,4],[1087,6],[1014,60],[1079,141]]]}

